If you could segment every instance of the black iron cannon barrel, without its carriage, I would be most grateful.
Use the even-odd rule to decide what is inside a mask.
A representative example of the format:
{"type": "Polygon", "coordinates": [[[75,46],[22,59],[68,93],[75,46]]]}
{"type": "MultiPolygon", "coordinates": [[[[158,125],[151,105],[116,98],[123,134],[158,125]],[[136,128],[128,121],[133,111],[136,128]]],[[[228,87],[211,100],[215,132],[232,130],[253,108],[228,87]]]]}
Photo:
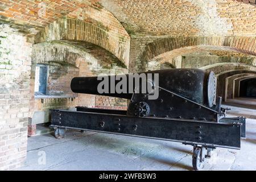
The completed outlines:
{"type": "MultiPolygon", "coordinates": [[[[181,97],[185,97],[191,101],[199,104],[212,107],[214,98],[216,98],[216,83],[213,72],[205,72],[201,69],[162,69],[158,71],[148,71],[143,73],[152,73],[152,82],[155,84],[154,74],[158,73],[160,88],[174,92],[181,97]]],[[[138,73],[140,75],[141,73],[138,73]]],[[[129,80],[129,75],[123,75],[129,80]]],[[[109,92],[99,93],[98,84],[102,80],[98,77],[75,77],[71,81],[71,89],[75,93],[96,94],[101,96],[119,97],[131,99],[133,93],[117,93],[110,92],[110,88],[115,88],[118,80],[115,76],[105,76],[109,80],[109,92]],[[111,85],[111,79],[115,80],[111,85]]],[[[133,80],[134,82],[134,80],[133,80]]],[[[132,86],[134,86],[133,84],[132,86]]],[[[127,81],[127,88],[129,88],[129,81],[127,81]]],[[[155,85],[157,86],[157,85],[155,85]]],[[[134,90],[134,87],[132,88],[134,90]]]]}

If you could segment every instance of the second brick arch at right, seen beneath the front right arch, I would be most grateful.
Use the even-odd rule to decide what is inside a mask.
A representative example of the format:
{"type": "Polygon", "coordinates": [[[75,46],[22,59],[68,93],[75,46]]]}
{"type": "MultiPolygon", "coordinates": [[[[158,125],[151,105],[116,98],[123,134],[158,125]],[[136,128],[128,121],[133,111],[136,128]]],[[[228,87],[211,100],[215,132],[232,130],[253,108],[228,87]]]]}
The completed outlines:
{"type": "Polygon", "coordinates": [[[160,68],[160,65],[164,63],[169,63],[174,65],[175,68],[203,68],[209,66],[209,64],[216,63],[242,63],[254,66],[256,57],[248,55],[238,51],[237,49],[227,47],[227,46],[189,46],[182,47],[179,49],[174,49],[172,51],[163,53],[159,56],[148,60],[146,69],[160,68]],[[194,52],[205,52],[205,55],[216,55],[224,57],[240,57],[240,59],[218,59],[216,61],[191,61],[185,60],[181,55],[187,55],[194,52]],[[155,68],[153,68],[155,67],[155,68]]]}

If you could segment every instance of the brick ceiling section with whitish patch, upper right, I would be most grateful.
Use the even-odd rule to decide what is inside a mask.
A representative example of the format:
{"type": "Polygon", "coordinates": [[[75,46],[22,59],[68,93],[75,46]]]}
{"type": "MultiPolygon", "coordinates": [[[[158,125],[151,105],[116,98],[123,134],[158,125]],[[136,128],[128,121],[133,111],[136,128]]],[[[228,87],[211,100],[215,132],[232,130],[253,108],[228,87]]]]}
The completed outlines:
{"type": "Polygon", "coordinates": [[[100,0],[100,3],[131,36],[256,34],[256,7],[249,1],[100,0]]]}

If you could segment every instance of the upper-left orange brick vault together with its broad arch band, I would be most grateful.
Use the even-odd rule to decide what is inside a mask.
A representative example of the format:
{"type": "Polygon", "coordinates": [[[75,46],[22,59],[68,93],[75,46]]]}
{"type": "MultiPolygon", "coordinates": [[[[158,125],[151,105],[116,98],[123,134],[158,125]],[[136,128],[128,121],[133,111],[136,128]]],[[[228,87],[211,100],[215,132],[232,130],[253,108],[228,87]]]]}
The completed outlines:
{"type": "Polygon", "coordinates": [[[31,35],[33,43],[82,40],[107,49],[129,65],[130,36],[97,0],[4,0],[0,3],[0,23],[9,21],[11,27],[31,35]]]}

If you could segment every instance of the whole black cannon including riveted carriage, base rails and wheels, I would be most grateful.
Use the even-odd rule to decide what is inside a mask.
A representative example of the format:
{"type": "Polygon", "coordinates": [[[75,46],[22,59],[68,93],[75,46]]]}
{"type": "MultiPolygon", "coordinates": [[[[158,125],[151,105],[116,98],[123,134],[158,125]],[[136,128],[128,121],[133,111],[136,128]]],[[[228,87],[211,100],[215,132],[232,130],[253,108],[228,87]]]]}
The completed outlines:
{"type": "Polygon", "coordinates": [[[127,110],[77,106],[51,110],[55,137],[66,129],[171,140],[193,146],[198,170],[216,147],[240,149],[244,117],[226,117],[216,96],[216,77],[201,69],[163,69],[137,74],[75,77],[75,93],[126,98],[127,110]],[[144,81],[144,82],[143,82],[144,81]],[[119,89],[118,89],[119,88],[119,89]],[[147,89],[145,89],[147,88],[147,89]]]}

